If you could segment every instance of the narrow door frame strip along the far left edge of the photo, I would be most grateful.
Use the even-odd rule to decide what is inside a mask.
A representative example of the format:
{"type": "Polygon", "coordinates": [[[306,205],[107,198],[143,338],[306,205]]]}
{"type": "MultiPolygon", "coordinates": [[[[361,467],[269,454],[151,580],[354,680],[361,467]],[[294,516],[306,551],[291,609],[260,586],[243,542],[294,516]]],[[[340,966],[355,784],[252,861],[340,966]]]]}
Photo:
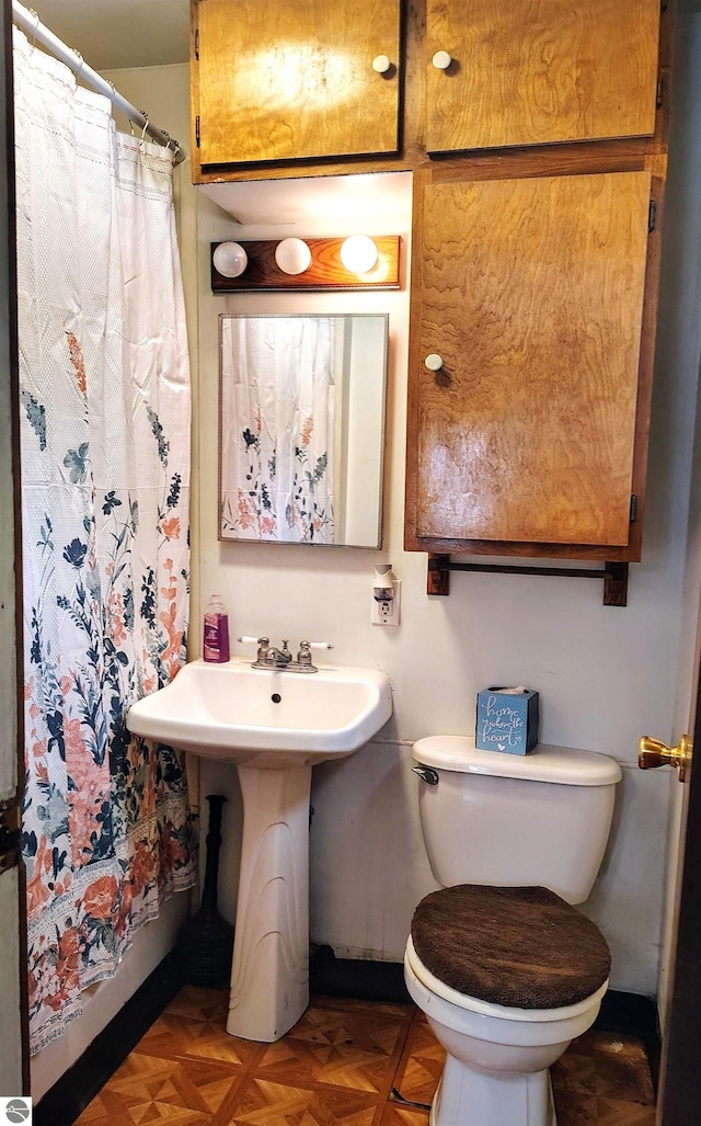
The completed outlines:
{"type": "MultiPolygon", "coordinates": [[[[7,73],[9,5],[0,17],[0,74],[7,73]]],[[[0,1099],[27,1094],[24,1052],[20,959],[25,944],[20,926],[23,892],[17,867],[18,799],[18,676],[16,643],[15,483],[17,409],[15,343],[15,241],[8,185],[14,179],[11,135],[8,137],[8,96],[0,82],[0,1099]],[[10,144],[8,144],[8,141],[10,144]],[[9,166],[9,167],[8,167],[9,166]],[[15,463],[15,467],[14,467],[15,463]]],[[[9,131],[11,134],[11,129],[9,131]]],[[[1,1105],[1,1103],[0,1103],[1,1105]]]]}

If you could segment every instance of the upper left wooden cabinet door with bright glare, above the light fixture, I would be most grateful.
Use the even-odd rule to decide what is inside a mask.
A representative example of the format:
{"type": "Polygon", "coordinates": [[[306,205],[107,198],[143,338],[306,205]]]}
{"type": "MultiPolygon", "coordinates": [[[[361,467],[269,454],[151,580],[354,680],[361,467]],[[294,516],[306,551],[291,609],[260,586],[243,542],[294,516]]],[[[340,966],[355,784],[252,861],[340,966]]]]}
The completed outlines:
{"type": "Polygon", "coordinates": [[[199,0],[197,18],[203,164],[397,151],[399,0],[199,0]]]}

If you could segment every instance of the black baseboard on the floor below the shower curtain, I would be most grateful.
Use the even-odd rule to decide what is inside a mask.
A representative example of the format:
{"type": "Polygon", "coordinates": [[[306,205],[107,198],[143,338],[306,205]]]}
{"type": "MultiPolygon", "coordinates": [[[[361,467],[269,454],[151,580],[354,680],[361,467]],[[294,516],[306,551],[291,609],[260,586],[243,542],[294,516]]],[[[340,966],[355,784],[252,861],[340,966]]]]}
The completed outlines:
{"type": "MultiPolygon", "coordinates": [[[[185,984],[169,954],[34,1108],[34,1126],[71,1126],[185,984]]],[[[117,1124],[115,1124],[117,1126],[117,1124]]]]}

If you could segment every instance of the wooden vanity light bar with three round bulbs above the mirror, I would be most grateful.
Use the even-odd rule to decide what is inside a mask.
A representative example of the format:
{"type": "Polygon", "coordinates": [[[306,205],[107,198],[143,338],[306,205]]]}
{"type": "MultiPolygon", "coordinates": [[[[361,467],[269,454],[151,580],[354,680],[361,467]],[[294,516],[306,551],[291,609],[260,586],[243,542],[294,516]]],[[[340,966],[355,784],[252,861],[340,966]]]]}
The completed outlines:
{"type": "Polygon", "coordinates": [[[399,242],[398,234],[213,242],[212,292],[398,289],[399,242]],[[248,266],[240,275],[219,268],[223,245],[245,253],[248,266]]]}

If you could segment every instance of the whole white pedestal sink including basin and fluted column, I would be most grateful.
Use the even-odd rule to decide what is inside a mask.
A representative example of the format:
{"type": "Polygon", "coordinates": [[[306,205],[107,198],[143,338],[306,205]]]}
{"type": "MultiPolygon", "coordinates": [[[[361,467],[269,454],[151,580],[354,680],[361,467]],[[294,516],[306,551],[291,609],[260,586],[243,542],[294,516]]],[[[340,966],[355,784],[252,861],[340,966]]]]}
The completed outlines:
{"type": "Polygon", "coordinates": [[[312,767],[352,754],[392,715],[384,672],[314,674],[192,661],[134,704],[136,735],[236,766],[243,841],[226,1029],[279,1039],[309,1001],[312,767]]]}

